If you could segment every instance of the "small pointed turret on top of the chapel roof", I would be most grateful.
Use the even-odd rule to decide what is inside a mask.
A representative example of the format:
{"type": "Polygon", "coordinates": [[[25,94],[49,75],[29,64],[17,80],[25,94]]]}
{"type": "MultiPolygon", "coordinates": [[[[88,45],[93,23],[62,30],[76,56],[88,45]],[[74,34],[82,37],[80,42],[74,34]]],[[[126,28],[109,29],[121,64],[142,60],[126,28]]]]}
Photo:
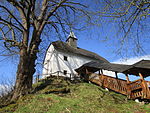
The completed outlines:
{"type": "Polygon", "coordinates": [[[70,45],[74,48],[77,48],[77,40],[78,39],[74,35],[74,32],[71,31],[68,38],[67,38],[67,40],[66,40],[66,42],[67,42],[68,45],[70,45]]]}

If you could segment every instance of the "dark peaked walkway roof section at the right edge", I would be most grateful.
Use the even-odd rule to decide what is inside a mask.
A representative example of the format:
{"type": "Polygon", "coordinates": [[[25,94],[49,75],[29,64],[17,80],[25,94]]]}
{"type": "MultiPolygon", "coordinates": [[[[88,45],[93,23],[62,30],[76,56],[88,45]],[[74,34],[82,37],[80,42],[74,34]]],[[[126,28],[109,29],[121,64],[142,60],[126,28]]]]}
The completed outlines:
{"type": "Polygon", "coordinates": [[[150,60],[141,60],[130,67],[124,69],[122,73],[127,73],[130,75],[139,76],[139,73],[143,75],[143,77],[150,76],[150,60]]]}

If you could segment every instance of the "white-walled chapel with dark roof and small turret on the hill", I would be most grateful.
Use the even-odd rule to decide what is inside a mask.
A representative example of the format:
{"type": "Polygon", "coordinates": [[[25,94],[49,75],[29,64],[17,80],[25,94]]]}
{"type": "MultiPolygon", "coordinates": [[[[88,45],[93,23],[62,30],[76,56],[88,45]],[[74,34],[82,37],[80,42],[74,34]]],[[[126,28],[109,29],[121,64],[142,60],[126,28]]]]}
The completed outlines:
{"type": "Polygon", "coordinates": [[[74,77],[75,69],[90,61],[104,61],[106,59],[96,53],[77,47],[77,38],[70,32],[66,42],[52,42],[46,52],[43,66],[43,77],[59,75],[74,77]]]}

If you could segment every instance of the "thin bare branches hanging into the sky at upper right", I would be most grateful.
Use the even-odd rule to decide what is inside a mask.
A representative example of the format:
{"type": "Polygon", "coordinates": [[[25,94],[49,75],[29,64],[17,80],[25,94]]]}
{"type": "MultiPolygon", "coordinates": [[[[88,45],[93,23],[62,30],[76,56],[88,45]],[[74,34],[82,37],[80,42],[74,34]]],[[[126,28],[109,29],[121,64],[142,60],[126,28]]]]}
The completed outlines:
{"type": "MultiPolygon", "coordinates": [[[[118,40],[120,45],[127,46],[127,41],[131,47],[135,46],[136,52],[144,52],[143,34],[149,32],[149,0],[101,0],[97,1],[99,6],[96,15],[108,23],[115,23],[118,30],[118,40]],[[132,42],[132,43],[131,43],[132,42]]],[[[105,23],[104,23],[105,24],[105,23]]],[[[145,39],[146,40],[146,39],[145,39]]],[[[130,49],[132,49],[130,47],[130,49]]],[[[128,48],[129,49],[129,48],[128,48]]],[[[122,51],[122,47],[119,48],[122,51]]]]}

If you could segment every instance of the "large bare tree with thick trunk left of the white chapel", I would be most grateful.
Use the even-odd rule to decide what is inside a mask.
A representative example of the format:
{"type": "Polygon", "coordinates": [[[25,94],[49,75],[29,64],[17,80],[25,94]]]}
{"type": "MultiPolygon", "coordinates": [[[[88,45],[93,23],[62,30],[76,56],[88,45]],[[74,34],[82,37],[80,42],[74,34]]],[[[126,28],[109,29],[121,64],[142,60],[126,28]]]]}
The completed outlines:
{"type": "Polygon", "coordinates": [[[11,55],[19,55],[12,101],[30,93],[39,45],[46,38],[41,35],[51,29],[67,32],[77,15],[87,16],[85,7],[74,0],[1,0],[0,40],[11,55]]]}

